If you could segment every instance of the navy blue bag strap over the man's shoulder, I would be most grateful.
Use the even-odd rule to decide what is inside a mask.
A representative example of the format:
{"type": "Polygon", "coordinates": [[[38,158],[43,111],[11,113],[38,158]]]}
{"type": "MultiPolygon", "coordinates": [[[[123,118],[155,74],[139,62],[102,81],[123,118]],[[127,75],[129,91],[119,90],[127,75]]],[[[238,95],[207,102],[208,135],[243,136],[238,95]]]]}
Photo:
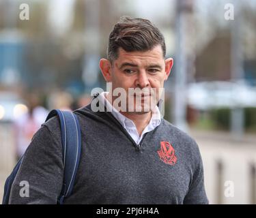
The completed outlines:
{"type": "Polygon", "coordinates": [[[64,198],[70,196],[74,187],[74,179],[81,156],[81,129],[76,114],[70,111],[52,110],[48,114],[46,121],[56,115],[59,116],[61,125],[61,144],[64,167],[63,186],[58,203],[63,204],[64,198]]]}

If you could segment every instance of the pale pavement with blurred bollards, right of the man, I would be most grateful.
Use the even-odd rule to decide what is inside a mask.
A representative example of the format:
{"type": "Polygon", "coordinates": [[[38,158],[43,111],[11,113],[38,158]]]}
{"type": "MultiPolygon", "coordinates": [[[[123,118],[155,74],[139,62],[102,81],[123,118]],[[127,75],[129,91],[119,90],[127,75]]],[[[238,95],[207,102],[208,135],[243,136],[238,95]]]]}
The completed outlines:
{"type": "Polygon", "coordinates": [[[228,132],[190,131],[203,159],[210,204],[256,204],[256,136],[228,132]]]}

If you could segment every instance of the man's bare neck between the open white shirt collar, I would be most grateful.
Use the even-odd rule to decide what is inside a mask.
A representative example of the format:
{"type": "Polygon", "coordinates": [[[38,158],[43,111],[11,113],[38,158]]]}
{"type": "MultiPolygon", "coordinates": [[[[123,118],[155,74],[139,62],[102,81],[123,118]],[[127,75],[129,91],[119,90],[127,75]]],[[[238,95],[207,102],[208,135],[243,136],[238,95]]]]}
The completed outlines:
{"type": "MultiPolygon", "coordinates": [[[[106,99],[112,104],[113,106],[113,96],[111,101],[110,93],[106,95],[106,99]]],[[[150,119],[152,117],[152,112],[122,112],[121,114],[126,116],[128,119],[132,120],[134,125],[136,126],[136,129],[139,133],[139,136],[141,136],[143,129],[150,123],[150,119]]]]}

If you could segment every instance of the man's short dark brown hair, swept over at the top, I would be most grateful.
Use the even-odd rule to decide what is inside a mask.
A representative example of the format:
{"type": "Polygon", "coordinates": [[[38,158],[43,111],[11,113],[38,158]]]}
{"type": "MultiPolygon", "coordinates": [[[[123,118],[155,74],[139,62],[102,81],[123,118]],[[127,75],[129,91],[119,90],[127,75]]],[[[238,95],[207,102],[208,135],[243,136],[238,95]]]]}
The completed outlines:
{"type": "Polygon", "coordinates": [[[162,54],[165,57],[165,38],[150,20],[123,16],[109,35],[107,58],[109,61],[117,59],[119,48],[123,48],[126,52],[143,52],[157,45],[162,47],[162,54]]]}

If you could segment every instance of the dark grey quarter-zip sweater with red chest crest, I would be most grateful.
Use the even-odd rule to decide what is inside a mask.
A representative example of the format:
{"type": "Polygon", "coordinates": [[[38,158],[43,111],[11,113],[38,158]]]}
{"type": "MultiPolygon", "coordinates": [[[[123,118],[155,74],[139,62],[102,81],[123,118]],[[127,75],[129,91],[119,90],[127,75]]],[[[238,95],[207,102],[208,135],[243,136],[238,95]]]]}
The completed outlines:
{"type": "MultiPolygon", "coordinates": [[[[64,204],[208,204],[195,140],[165,119],[137,145],[111,112],[76,110],[81,161],[64,204]]],[[[63,182],[57,117],[31,140],[12,185],[10,204],[56,204],[63,182]],[[29,197],[20,196],[20,182],[29,197]]]]}

